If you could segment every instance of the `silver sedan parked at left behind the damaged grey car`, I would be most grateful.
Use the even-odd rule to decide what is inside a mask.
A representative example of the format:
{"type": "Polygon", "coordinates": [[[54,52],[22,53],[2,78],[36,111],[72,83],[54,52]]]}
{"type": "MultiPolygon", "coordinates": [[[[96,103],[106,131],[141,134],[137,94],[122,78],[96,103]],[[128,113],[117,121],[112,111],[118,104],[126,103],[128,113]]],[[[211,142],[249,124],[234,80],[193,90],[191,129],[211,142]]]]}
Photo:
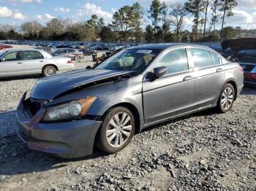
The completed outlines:
{"type": "Polygon", "coordinates": [[[56,71],[73,69],[70,58],[54,57],[44,50],[6,50],[0,53],[0,77],[42,74],[47,77],[56,71]]]}

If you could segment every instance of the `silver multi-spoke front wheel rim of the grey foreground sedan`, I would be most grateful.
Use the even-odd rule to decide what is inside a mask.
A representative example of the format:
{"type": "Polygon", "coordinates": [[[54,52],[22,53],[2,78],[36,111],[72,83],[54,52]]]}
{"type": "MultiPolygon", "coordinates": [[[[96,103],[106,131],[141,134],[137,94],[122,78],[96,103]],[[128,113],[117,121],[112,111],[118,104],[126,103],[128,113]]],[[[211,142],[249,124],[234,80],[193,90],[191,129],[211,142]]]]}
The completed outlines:
{"type": "Polygon", "coordinates": [[[126,112],[115,114],[110,122],[106,132],[108,144],[112,147],[123,146],[132,133],[132,118],[126,112]]]}

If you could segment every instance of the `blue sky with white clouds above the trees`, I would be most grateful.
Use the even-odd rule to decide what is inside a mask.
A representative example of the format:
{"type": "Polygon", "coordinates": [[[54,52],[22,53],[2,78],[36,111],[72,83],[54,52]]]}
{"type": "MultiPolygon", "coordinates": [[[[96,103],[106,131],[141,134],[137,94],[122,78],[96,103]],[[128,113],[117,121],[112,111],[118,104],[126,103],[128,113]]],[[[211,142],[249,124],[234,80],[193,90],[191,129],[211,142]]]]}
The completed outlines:
{"type": "MultiPolygon", "coordinates": [[[[111,22],[113,13],[124,5],[132,5],[136,0],[0,0],[0,25],[18,26],[27,21],[37,20],[45,24],[53,17],[72,18],[75,22],[88,20],[91,15],[103,17],[111,22]]],[[[137,0],[148,9],[151,0],[137,0]]],[[[178,0],[160,0],[171,5],[178,0]]],[[[179,1],[178,1],[179,2],[179,1]]],[[[184,2],[184,0],[180,0],[184,2]]],[[[235,16],[227,17],[225,26],[256,28],[256,0],[238,0],[235,16]]],[[[147,17],[145,18],[147,20],[147,17]]],[[[191,30],[192,16],[185,18],[184,29],[191,30]]],[[[217,28],[220,27],[220,23],[217,28]]]]}

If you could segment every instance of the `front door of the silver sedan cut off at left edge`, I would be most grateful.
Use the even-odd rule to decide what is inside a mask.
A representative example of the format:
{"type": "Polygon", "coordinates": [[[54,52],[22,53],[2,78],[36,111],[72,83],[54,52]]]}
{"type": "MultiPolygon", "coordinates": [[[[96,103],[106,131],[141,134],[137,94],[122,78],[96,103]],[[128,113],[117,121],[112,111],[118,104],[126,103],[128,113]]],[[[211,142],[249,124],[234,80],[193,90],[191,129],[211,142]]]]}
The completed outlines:
{"type": "Polygon", "coordinates": [[[0,62],[0,76],[23,74],[23,54],[21,51],[12,51],[4,55],[4,61],[0,62]]]}

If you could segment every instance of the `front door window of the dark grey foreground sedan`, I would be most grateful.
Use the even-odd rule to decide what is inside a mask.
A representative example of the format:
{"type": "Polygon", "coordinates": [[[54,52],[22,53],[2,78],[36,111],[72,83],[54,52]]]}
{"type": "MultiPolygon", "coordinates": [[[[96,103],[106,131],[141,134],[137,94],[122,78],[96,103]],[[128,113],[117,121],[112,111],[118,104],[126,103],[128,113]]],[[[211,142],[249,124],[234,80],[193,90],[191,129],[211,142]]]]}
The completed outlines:
{"type": "Polygon", "coordinates": [[[181,71],[187,71],[189,69],[189,64],[187,61],[186,49],[177,49],[167,52],[157,62],[156,67],[160,66],[167,67],[167,74],[175,74],[181,71]]]}

